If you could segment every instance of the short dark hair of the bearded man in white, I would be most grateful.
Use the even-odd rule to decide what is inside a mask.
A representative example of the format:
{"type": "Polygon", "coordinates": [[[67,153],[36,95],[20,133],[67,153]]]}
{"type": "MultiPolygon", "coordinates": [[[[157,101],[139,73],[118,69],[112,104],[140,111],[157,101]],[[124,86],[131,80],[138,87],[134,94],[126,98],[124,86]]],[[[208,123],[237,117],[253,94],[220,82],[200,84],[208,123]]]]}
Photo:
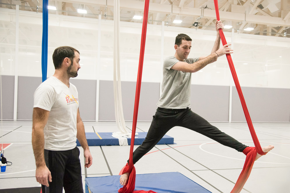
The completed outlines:
{"type": "Polygon", "coordinates": [[[61,64],[64,61],[64,58],[69,58],[71,61],[73,61],[73,58],[75,57],[75,51],[80,53],[78,50],[69,46],[61,46],[55,49],[52,54],[52,60],[55,69],[61,68],[61,64]]]}

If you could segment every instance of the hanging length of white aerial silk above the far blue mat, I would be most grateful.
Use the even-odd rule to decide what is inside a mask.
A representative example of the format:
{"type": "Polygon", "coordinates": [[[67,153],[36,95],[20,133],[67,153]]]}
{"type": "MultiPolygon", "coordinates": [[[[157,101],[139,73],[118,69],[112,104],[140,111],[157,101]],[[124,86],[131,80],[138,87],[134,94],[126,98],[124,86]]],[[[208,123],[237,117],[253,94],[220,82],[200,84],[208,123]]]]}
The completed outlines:
{"type": "Polygon", "coordinates": [[[114,102],[116,124],[121,133],[128,134],[125,126],[122,105],[121,78],[120,78],[120,2],[114,0],[114,45],[113,45],[113,65],[114,65],[114,102]]]}

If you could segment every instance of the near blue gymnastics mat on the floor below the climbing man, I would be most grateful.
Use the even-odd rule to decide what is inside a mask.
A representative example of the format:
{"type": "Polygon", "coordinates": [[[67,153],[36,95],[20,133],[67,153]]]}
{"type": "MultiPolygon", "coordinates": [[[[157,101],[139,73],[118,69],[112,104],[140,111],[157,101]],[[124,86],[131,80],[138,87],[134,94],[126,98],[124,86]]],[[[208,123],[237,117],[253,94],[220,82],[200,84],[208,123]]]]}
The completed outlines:
{"type": "MultiPolygon", "coordinates": [[[[92,193],[118,193],[123,187],[119,178],[120,176],[86,178],[86,193],[89,190],[92,193]]],[[[157,193],[211,193],[179,172],[137,174],[135,190],[152,190],[157,193]]]]}

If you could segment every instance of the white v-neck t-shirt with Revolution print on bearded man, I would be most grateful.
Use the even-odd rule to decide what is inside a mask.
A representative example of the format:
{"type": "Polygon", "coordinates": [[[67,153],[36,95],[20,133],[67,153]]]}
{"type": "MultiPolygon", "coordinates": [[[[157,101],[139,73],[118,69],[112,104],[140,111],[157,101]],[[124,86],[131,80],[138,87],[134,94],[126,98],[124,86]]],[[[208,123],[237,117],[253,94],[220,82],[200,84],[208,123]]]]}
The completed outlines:
{"type": "Polygon", "coordinates": [[[44,149],[64,151],[75,148],[77,136],[78,91],[54,76],[41,83],[34,93],[34,108],[50,111],[44,127],[44,149]]]}

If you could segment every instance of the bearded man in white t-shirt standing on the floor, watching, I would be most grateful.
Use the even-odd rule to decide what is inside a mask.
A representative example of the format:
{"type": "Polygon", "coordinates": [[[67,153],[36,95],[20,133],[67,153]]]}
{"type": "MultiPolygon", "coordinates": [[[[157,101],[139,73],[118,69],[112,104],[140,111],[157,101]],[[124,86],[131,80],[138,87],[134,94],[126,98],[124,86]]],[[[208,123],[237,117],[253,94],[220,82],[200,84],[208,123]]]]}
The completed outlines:
{"type": "Polygon", "coordinates": [[[69,82],[78,76],[80,52],[72,47],[55,49],[55,74],[41,83],[34,93],[32,147],[36,162],[36,181],[43,193],[83,193],[80,150],[84,149],[85,167],[92,155],[78,109],[78,91],[69,82]]]}

